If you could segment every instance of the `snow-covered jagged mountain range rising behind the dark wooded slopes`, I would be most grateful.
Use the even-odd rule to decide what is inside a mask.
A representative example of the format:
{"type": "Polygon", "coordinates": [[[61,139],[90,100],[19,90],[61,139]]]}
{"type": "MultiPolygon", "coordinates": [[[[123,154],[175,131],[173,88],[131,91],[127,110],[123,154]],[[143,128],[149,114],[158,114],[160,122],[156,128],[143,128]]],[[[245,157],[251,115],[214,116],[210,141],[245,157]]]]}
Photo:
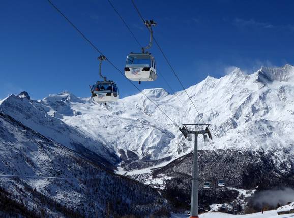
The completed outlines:
{"type": "MultiPolygon", "coordinates": [[[[212,124],[214,141],[201,143],[201,139],[199,149],[272,152],[281,170],[292,159],[293,66],[262,67],[250,75],[236,68],[219,79],[208,76],[186,91],[204,121],[212,124]]],[[[199,121],[184,91],[169,94],[155,88],[143,92],[175,123],[199,121]]],[[[116,155],[124,162],[153,163],[192,151],[178,127],[141,93],[107,106],[67,91],[39,101],[21,93],[2,100],[0,111],[69,148],[75,149],[77,142],[112,164],[120,161],[116,155]]]]}

